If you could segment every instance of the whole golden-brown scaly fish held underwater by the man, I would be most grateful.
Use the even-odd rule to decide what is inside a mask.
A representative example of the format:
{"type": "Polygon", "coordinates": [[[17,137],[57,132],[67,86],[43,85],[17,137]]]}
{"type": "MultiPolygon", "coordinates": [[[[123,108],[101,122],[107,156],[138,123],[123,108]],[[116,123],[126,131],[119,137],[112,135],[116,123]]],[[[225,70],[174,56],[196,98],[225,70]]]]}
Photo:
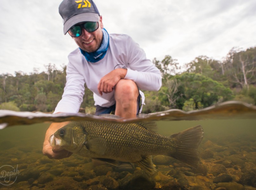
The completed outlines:
{"type": "Polygon", "coordinates": [[[55,149],[113,165],[116,161],[131,162],[149,172],[155,171],[152,155],[167,155],[197,168],[197,148],[204,134],[201,125],[172,136],[163,136],[156,130],[155,122],[70,122],[51,135],[49,142],[55,149]]]}

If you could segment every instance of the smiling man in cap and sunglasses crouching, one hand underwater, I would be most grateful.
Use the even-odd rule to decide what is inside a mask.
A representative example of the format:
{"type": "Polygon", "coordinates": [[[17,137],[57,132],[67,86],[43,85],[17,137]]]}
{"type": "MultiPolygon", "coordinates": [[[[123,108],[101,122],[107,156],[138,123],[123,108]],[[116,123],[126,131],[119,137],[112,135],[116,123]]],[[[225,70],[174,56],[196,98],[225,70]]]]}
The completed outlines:
{"type": "MultiPolygon", "coordinates": [[[[67,83],[54,113],[77,113],[86,84],[93,92],[96,115],[114,113],[123,118],[136,117],[145,99],[139,89],[159,90],[160,71],[131,37],[108,34],[92,0],[83,3],[64,0],[59,13],[64,21],[64,34],[69,33],[79,48],[69,54],[67,83]]],[[[67,123],[49,126],[43,143],[44,155],[61,159],[72,154],[53,150],[49,143],[49,136],[67,123]]]]}

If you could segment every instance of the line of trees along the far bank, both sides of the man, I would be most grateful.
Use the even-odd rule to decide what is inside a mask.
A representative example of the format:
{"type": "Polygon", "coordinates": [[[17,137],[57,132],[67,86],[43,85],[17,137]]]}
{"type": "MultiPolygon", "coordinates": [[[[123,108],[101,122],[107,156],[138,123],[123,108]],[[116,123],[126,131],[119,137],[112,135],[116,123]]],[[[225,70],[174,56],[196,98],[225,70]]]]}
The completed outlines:
{"type": "MultiPolygon", "coordinates": [[[[162,87],[158,92],[144,92],[144,113],[174,108],[191,111],[228,100],[256,105],[256,47],[232,48],[223,61],[199,56],[183,68],[170,55],[153,63],[161,71],[162,87]]],[[[62,70],[50,63],[45,67],[42,73],[35,69],[30,74],[1,74],[0,109],[54,111],[65,86],[66,66],[62,70]]],[[[95,111],[93,94],[87,88],[81,108],[95,111]]]]}

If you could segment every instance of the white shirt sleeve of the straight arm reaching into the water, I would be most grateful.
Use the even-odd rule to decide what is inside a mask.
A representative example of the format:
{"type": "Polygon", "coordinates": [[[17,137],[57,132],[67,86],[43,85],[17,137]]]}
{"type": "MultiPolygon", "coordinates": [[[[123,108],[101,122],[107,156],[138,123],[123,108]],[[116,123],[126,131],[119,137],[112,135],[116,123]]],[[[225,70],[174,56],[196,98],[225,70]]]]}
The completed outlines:
{"type": "Polygon", "coordinates": [[[74,66],[69,60],[66,73],[67,82],[62,99],[57,104],[54,113],[78,113],[83,101],[85,81],[82,74],[79,73],[79,68],[74,66]]]}

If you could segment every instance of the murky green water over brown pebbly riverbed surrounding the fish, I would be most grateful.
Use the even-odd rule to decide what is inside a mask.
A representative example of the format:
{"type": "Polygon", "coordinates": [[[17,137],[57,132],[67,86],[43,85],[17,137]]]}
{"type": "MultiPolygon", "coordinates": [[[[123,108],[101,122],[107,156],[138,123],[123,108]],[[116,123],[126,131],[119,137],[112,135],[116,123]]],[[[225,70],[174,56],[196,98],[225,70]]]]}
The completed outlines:
{"type": "Polygon", "coordinates": [[[198,120],[194,116],[179,121],[174,116],[154,117],[158,133],[165,136],[196,125],[204,130],[198,147],[199,168],[159,155],[153,159],[154,175],[139,168],[129,174],[117,173],[110,165],[94,167],[90,159],[75,154],[48,159],[42,154],[42,144],[49,122],[7,127],[0,130],[0,189],[256,189],[254,108],[248,117],[241,112],[243,118],[237,117],[239,111],[233,116],[225,109],[218,112],[222,117],[226,114],[224,119],[215,118],[216,113],[213,119],[209,114],[203,119],[205,111],[198,120]]]}

